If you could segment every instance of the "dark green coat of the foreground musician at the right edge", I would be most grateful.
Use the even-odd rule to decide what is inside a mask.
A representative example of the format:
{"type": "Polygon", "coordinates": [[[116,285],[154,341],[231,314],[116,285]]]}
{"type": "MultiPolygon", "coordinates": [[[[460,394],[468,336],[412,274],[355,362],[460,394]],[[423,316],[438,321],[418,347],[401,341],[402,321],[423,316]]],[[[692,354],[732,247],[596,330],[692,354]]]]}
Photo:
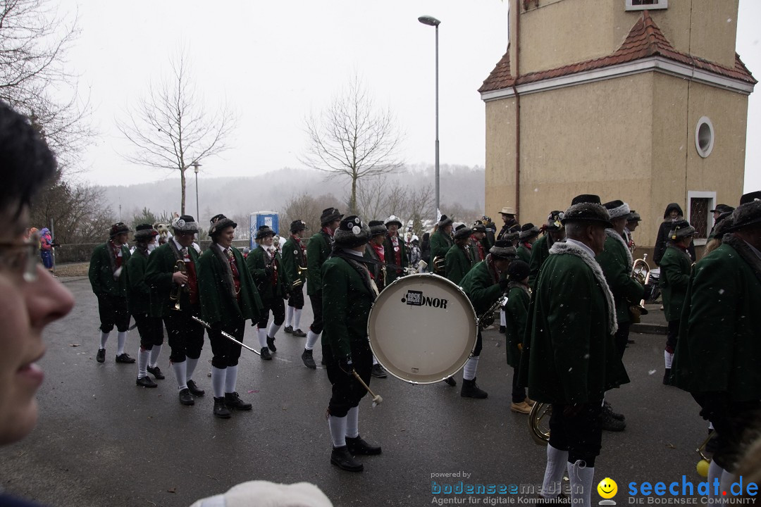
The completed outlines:
{"type": "Polygon", "coordinates": [[[761,399],[761,260],[727,234],[689,279],[671,371],[692,393],[761,399]]]}

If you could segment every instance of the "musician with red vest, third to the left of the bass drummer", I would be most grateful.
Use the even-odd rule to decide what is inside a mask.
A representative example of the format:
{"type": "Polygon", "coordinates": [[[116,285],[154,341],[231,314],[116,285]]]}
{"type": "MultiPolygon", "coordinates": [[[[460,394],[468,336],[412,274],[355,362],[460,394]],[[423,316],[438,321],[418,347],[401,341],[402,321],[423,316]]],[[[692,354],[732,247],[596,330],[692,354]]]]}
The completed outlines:
{"type": "Polygon", "coordinates": [[[307,336],[301,331],[301,310],[304,308],[304,283],[307,274],[299,274],[298,268],[307,267],[307,248],[301,243],[301,235],[307,230],[304,220],[291,222],[291,237],[289,237],[282,249],[283,269],[291,280],[291,296],[288,297],[288,307],[285,309],[285,331],[294,336],[307,336]],[[293,323],[293,325],[291,325],[293,323]]]}

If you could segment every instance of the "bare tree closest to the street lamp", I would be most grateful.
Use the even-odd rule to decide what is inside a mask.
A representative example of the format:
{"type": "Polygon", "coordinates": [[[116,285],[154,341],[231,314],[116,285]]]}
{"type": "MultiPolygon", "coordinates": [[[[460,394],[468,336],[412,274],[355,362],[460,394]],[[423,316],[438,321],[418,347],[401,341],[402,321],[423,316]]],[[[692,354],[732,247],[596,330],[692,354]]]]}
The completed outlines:
{"type": "Polygon", "coordinates": [[[375,108],[356,75],[319,118],[307,118],[306,131],[308,146],[301,162],[329,173],[329,178],[347,176],[351,180],[351,214],[357,212],[360,179],[392,173],[403,164],[396,153],[403,140],[396,119],[390,110],[375,108]]]}

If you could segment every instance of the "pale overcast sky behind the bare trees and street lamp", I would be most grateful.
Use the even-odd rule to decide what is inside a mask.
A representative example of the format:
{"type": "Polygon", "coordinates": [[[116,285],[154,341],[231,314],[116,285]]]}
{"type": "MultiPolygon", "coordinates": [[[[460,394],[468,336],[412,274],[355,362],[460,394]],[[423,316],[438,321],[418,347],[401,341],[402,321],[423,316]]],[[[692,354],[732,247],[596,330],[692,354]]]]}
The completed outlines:
{"type": "MultiPolygon", "coordinates": [[[[203,162],[201,178],[299,167],[304,118],[319,112],[353,74],[406,132],[402,157],[434,162],[435,29],[438,17],[441,163],[485,165],[484,103],[476,92],[508,43],[508,2],[500,0],[279,0],[76,2],[81,36],[68,61],[90,93],[101,133],[84,157],[85,178],[104,185],[164,179],[126,163],[132,148],[115,127],[167,75],[185,48],[210,108],[226,101],[237,115],[231,149],[203,162]]],[[[761,2],[740,0],[737,52],[761,77],[761,2]]],[[[761,90],[748,112],[746,191],[761,189],[761,90]]],[[[720,133],[717,133],[717,138],[720,133]]],[[[174,176],[174,175],[173,175],[174,176]]]]}

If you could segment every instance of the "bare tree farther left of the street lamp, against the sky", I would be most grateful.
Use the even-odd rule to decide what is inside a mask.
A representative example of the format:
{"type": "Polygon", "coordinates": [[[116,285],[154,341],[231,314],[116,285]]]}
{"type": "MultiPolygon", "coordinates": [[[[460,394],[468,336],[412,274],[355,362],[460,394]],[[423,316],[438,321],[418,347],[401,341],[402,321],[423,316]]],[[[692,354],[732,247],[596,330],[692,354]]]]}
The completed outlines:
{"type": "MultiPolygon", "coordinates": [[[[142,166],[180,171],[180,210],[185,214],[185,172],[206,157],[228,149],[235,118],[227,106],[209,112],[196,92],[184,53],[170,59],[171,75],[148,93],[117,122],[135,145],[125,160],[142,166]]],[[[197,218],[197,217],[196,217],[197,218]]]]}

